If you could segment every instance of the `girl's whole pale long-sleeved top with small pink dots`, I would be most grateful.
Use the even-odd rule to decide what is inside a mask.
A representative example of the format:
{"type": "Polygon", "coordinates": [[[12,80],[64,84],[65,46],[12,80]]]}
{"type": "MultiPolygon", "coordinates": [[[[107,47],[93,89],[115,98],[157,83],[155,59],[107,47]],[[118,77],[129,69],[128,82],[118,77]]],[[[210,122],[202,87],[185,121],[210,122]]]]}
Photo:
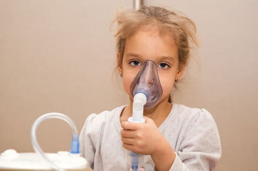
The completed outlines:
{"type": "MultiPolygon", "coordinates": [[[[124,107],[91,114],[85,121],[80,134],[81,155],[94,170],[129,170],[120,135],[124,107]]],[[[159,130],[176,153],[170,171],[214,170],[221,157],[221,144],[216,123],[207,110],[173,104],[159,130]]],[[[150,155],[144,156],[144,163],[144,170],[155,170],[150,155]]]]}

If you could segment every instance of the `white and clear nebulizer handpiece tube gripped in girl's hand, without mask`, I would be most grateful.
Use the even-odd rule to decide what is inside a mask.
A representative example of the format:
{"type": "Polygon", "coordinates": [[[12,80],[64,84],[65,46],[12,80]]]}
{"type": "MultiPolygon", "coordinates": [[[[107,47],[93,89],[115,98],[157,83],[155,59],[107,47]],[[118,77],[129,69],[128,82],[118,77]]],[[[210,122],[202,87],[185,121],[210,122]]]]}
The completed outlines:
{"type": "MultiPolygon", "coordinates": [[[[133,109],[132,109],[132,117],[128,119],[129,122],[140,122],[145,123],[145,119],[143,118],[143,106],[147,102],[147,97],[144,93],[136,93],[133,98],[133,109]]],[[[137,154],[133,151],[128,151],[127,155],[127,164],[131,165],[132,171],[137,171],[144,164],[144,156],[137,154]]]]}

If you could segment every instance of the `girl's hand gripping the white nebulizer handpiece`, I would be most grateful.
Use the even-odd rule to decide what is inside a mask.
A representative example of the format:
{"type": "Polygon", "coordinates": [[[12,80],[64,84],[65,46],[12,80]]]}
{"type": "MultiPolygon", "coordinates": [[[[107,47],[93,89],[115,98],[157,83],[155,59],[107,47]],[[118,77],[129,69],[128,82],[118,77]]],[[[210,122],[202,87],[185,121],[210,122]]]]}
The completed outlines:
{"type": "Polygon", "coordinates": [[[122,122],[123,147],[141,155],[153,155],[167,141],[152,119],[144,117],[146,123],[122,122]]]}

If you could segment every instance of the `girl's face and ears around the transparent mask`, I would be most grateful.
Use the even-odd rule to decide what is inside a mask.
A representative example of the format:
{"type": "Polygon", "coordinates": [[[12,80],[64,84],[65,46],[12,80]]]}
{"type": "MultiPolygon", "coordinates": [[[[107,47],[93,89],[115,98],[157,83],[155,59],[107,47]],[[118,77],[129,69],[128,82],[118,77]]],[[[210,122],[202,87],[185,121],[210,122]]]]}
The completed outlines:
{"type": "MultiPolygon", "coordinates": [[[[117,61],[118,57],[119,54],[117,61]]],[[[178,48],[173,37],[169,34],[161,36],[158,29],[139,30],[126,40],[122,66],[118,66],[118,71],[123,75],[125,91],[132,98],[131,83],[147,59],[157,64],[163,90],[161,101],[168,99],[175,79],[183,74],[184,66],[179,68],[178,48]]]]}

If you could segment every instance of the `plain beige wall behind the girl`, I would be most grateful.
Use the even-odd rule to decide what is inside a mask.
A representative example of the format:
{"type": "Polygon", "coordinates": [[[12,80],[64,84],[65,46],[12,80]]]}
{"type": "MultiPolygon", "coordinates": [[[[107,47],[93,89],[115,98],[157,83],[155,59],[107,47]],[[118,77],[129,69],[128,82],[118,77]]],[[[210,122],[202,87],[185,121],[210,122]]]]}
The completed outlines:
{"type": "MultiPolygon", "coordinates": [[[[258,2],[158,2],[145,0],[185,12],[202,45],[199,71],[190,72],[200,76],[186,79],[174,101],[213,114],[223,151],[217,170],[256,170],[258,2]]],[[[120,5],[133,3],[0,0],[0,152],[33,151],[30,128],[44,113],[64,113],[80,130],[90,113],[127,104],[111,77],[116,52],[109,26],[120,5]]],[[[44,151],[69,150],[65,122],[45,121],[37,133],[44,151]]]]}

